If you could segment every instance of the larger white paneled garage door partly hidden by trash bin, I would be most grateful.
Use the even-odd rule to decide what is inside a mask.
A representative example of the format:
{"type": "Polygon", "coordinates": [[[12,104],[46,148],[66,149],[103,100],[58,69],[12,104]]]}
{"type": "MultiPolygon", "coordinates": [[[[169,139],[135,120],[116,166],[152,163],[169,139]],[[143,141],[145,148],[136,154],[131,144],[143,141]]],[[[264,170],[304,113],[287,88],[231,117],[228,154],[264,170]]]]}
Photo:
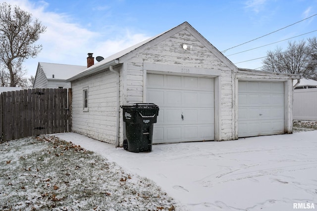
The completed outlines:
{"type": "Polygon", "coordinates": [[[147,102],[159,106],[153,143],[214,139],[213,79],[147,75],[147,102]]]}

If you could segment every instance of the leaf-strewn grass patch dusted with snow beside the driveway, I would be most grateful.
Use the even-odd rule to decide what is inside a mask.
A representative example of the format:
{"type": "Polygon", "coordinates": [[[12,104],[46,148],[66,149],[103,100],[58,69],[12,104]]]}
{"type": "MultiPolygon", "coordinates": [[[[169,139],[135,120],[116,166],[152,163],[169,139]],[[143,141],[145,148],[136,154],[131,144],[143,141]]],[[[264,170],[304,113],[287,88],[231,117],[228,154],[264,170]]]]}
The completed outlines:
{"type": "Polygon", "coordinates": [[[54,136],[0,143],[1,211],[172,211],[153,181],[54,136]]]}

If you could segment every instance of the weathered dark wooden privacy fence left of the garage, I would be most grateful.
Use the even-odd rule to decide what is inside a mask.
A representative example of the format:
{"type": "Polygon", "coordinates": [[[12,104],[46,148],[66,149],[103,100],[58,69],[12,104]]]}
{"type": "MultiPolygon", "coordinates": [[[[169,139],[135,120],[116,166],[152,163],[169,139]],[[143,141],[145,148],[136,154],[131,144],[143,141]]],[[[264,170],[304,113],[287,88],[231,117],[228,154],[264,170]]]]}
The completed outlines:
{"type": "Polygon", "coordinates": [[[71,93],[71,89],[67,92],[66,88],[1,93],[0,138],[7,141],[71,131],[71,93]]]}

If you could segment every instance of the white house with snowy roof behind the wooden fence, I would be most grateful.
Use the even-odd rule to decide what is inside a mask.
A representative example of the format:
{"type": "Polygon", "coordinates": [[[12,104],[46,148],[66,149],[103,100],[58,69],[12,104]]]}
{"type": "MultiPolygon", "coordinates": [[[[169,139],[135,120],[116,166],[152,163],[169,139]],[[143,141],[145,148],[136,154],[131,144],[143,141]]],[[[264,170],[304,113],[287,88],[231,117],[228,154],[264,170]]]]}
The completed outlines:
{"type": "Polygon", "coordinates": [[[70,82],[65,80],[86,68],[87,66],[39,62],[33,88],[70,88],[70,82]]]}

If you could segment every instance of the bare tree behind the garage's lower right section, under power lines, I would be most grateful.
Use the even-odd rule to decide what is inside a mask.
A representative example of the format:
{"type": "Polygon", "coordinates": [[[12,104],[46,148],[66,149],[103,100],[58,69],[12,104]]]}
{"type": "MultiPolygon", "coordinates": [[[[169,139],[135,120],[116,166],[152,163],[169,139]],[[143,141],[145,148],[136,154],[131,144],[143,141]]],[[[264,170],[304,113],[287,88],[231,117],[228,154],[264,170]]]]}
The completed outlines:
{"type": "Polygon", "coordinates": [[[304,40],[288,42],[288,47],[285,51],[277,47],[274,51],[267,52],[267,57],[262,61],[264,64],[262,70],[314,78],[316,60],[315,62],[312,60],[313,52],[311,41],[309,43],[304,40]]]}

